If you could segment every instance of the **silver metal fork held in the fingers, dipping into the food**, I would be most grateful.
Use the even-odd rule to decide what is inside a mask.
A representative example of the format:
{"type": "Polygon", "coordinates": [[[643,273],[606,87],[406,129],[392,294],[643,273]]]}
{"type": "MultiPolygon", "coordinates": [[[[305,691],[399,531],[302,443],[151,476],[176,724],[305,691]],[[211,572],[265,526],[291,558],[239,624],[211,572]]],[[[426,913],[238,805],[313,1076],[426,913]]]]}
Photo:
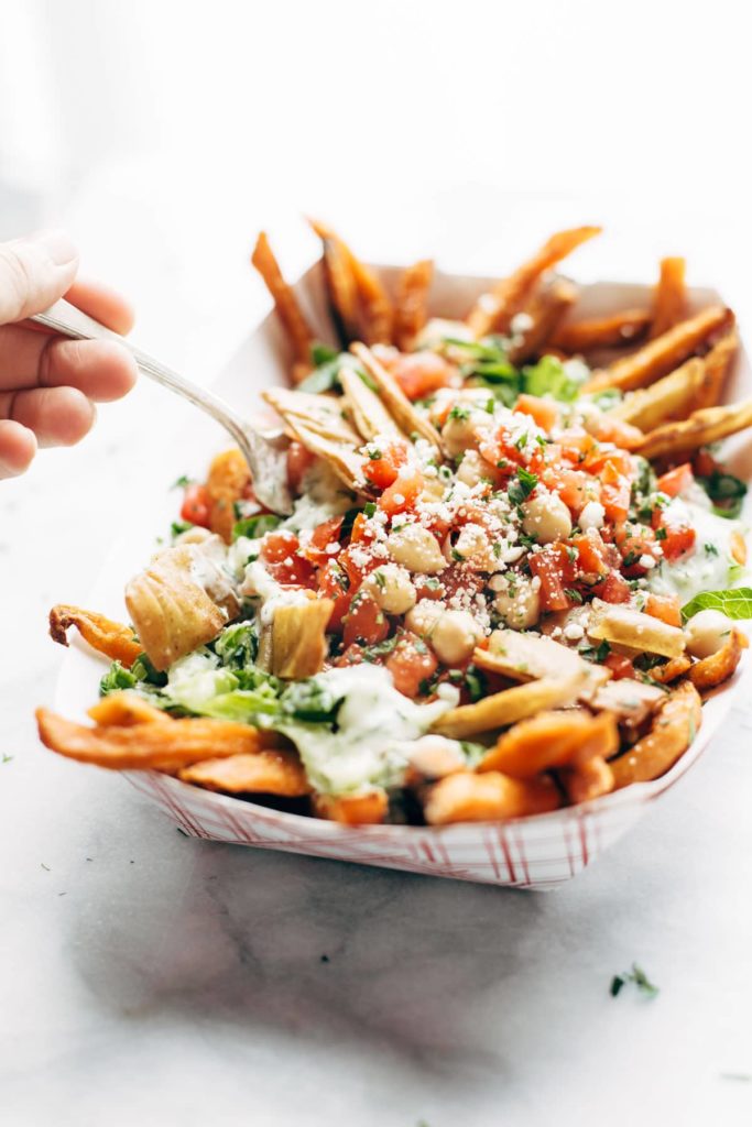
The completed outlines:
{"type": "Polygon", "coordinates": [[[248,462],[254,480],[254,492],[266,508],[273,513],[292,512],[292,498],[287,489],[285,435],[278,432],[262,433],[237,415],[232,408],[198,384],[192,383],[166,364],[136,348],[124,337],[100,325],[92,317],[82,313],[70,302],[60,300],[43,313],[34,313],[29,320],[44,325],[73,340],[115,340],[126,348],[135,360],[139,370],[163,388],[183,396],[194,407],[211,415],[216,423],[232,435],[244,458],[248,462]]]}

